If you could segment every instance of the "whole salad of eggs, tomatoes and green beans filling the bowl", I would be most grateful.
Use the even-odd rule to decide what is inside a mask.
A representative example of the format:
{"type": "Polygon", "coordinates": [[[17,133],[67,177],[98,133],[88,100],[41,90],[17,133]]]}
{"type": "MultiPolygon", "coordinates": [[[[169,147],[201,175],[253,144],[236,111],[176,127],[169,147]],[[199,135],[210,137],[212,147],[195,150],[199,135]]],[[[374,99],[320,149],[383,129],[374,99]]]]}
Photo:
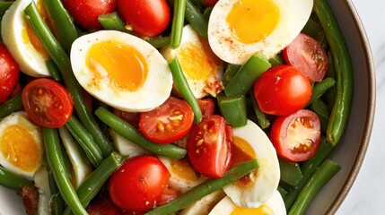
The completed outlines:
{"type": "Polygon", "coordinates": [[[0,2],[0,184],[28,214],[303,214],[353,92],[327,0],[0,2]]]}

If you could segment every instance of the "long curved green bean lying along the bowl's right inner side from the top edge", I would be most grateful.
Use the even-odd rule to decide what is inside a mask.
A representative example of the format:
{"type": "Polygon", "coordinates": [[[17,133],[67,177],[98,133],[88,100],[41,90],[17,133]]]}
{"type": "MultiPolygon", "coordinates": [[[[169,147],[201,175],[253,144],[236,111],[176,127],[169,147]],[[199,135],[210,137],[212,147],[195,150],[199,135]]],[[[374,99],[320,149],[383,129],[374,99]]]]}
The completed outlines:
{"type": "Polygon", "coordinates": [[[325,30],[334,55],[337,73],[337,95],[328,123],[327,140],[336,145],[346,127],[353,98],[353,65],[344,35],[327,0],[315,0],[313,10],[325,30]]]}

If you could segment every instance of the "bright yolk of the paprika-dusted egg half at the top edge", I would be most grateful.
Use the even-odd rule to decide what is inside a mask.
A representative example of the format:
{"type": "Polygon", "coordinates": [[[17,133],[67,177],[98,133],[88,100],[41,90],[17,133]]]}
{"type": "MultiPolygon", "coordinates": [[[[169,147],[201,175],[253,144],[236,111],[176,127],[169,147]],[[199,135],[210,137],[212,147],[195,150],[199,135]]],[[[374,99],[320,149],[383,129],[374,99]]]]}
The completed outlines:
{"type": "Polygon", "coordinates": [[[226,22],[234,39],[249,44],[267,38],[279,18],[279,8],[272,0],[240,0],[233,4],[226,22]]]}

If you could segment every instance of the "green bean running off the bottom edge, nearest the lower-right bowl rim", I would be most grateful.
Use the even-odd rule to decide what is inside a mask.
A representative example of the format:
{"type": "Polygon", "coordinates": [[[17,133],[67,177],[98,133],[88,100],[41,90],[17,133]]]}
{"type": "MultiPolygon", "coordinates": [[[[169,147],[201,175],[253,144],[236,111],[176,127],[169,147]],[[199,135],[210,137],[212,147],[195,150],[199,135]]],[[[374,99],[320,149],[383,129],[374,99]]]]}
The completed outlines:
{"type": "Polygon", "coordinates": [[[302,215],[305,213],[309,203],[319,190],[328,183],[331,177],[337,174],[341,167],[334,161],[327,159],[311,176],[311,179],[303,187],[293,207],[289,211],[289,215],[302,215]]]}

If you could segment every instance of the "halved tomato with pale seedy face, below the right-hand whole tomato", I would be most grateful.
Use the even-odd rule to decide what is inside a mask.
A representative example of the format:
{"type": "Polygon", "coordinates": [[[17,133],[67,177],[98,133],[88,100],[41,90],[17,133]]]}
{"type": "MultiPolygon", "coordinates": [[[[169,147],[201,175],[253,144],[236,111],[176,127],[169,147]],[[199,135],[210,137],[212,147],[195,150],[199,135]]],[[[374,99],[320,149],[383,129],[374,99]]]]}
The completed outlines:
{"type": "Polygon", "coordinates": [[[283,159],[294,162],[311,159],[319,148],[319,117],[306,109],[280,116],[271,127],[270,140],[283,159]]]}

